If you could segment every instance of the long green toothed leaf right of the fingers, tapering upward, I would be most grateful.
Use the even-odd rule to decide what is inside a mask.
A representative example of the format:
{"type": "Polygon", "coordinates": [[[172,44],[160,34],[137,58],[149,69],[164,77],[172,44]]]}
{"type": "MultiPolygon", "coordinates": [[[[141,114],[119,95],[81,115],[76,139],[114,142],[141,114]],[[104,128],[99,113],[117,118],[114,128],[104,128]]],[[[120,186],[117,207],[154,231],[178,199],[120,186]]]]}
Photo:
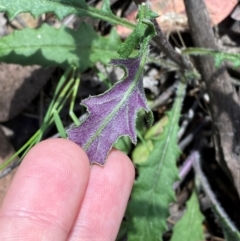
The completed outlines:
{"type": "Polygon", "coordinates": [[[129,241],[159,241],[167,230],[169,203],[175,200],[173,183],[178,179],[176,160],[180,150],[177,145],[178,122],[185,84],[180,83],[169,121],[161,137],[155,140],[148,160],[139,169],[128,206],[129,241]]]}

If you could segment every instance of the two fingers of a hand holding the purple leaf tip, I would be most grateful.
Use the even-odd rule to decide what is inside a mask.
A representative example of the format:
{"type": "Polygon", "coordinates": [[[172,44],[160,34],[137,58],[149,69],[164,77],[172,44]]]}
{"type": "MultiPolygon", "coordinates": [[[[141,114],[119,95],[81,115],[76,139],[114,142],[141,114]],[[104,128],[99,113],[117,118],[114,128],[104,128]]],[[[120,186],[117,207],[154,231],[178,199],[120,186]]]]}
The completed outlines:
{"type": "Polygon", "coordinates": [[[1,241],[113,241],[134,181],[129,158],[112,150],[104,167],[64,139],[33,147],[0,209],[1,241]]]}

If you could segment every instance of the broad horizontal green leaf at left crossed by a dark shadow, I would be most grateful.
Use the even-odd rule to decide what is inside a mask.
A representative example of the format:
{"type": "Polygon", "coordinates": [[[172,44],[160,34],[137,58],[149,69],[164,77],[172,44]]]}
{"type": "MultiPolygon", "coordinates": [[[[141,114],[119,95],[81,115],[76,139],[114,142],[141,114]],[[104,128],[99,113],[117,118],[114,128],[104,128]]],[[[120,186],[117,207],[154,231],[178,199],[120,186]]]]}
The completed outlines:
{"type": "Polygon", "coordinates": [[[93,28],[82,23],[77,31],[66,27],[55,29],[43,25],[39,29],[24,29],[0,39],[0,60],[21,65],[76,66],[80,71],[97,61],[104,64],[116,58],[119,44],[117,34],[99,36],[93,28]]]}

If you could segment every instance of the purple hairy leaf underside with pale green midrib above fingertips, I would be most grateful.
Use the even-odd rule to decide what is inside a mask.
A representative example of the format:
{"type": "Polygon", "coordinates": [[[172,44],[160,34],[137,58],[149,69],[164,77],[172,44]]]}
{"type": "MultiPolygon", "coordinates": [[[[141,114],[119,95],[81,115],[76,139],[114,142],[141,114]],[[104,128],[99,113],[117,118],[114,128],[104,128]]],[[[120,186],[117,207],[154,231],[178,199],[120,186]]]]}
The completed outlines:
{"type": "Polygon", "coordinates": [[[104,94],[81,102],[89,116],[79,127],[69,130],[68,137],[86,151],[91,164],[104,165],[108,152],[121,136],[137,142],[137,112],[141,108],[149,110],[139,72],[140,61],[140,58],[112,60],[112,64],[125,68],[126,78],[104,94]]]}

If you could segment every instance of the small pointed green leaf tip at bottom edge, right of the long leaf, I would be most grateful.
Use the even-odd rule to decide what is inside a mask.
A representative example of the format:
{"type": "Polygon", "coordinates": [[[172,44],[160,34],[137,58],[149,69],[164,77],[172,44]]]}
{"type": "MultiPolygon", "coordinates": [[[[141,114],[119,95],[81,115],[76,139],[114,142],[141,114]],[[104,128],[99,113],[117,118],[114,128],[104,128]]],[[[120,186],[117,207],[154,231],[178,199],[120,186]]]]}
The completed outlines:
{"type": "Polygon", "coordinates": [[[204,217],[200,211],[196,191],[193,191],[187,202],[187,210],[184,216],[175,224],[171,241],[203,241],[204,217]]]}

